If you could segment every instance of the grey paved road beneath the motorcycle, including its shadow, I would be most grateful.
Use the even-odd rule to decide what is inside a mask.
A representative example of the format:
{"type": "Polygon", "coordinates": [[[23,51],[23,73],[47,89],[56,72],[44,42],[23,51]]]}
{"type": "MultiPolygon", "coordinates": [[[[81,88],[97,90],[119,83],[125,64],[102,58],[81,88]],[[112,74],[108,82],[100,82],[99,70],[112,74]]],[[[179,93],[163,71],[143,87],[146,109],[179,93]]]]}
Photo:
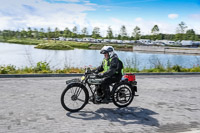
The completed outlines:
{"type": "Polygon", "coordinates": [[[129,107],[88,104],[77,113],[60,104],[71,78],[0,78],[0,133],[200,132],[200,75],[138,75],[129,107]]]}

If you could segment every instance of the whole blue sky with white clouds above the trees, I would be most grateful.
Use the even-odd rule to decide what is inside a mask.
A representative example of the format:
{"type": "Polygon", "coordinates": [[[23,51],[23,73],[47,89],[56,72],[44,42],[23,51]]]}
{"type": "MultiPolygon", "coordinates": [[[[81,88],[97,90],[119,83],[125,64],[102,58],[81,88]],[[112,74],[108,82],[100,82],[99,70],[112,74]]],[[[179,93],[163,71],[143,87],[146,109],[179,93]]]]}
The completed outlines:
{"type": "Polygon", "coordinates": [[[99,27],[105,36],[109,26],[115,35],[125,25],[128,35],[136,26],[145,35],[158,25],[175,34],[181,21],[200,34],[200,0],[0,0],[0,30],[99,27]]]}

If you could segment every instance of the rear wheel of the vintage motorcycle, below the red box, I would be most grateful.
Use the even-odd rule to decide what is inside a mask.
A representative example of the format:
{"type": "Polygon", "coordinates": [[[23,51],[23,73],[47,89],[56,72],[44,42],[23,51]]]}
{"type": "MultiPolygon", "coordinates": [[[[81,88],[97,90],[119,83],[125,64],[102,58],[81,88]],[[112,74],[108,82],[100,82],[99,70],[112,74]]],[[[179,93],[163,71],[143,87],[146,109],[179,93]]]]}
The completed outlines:
{"type": "Polygon", "coordinates": [[[113,103],[119,108],[127,107],[135,96],[135,91],[126,83],[119,83],[112,92],[113,103]]]}

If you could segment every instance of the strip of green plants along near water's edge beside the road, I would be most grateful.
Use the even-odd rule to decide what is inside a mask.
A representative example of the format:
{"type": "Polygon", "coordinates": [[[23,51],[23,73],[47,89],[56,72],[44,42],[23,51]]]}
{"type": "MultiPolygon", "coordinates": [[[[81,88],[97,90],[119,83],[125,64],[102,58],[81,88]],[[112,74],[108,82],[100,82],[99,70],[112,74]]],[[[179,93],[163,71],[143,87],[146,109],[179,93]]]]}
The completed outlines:
{"type": "MultiPolygon", "coordinates": [[[[136,68],[124,68],[124,73],[167,73],[167,72],[200,72],[199,66],[182,68],[174,65],[168,68],[150,68],[138,70],[136,68]]],[[[34,67],[16,68],[14,65],[0,66],[0,74],[33,74],[33,73],[84,73],[83,68],[67,67],[64,69],[51,70],[47,62],[38,62],[34,67]]]]}

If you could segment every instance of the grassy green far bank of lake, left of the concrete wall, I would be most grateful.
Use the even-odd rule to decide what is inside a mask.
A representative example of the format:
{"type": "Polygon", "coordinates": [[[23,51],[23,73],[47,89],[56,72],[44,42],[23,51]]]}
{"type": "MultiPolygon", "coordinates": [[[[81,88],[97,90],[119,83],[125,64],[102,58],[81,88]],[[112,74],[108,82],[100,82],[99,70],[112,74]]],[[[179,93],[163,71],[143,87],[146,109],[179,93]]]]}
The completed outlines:
{"type": "Polygon", "coordinates": [[[75,42],[75,41],[57,41],[54,43],[53,40],[7,40],[1,41],[1,43],[9,44],[21,44],[21,45],[35,45],[37,49],[47,49],[47,50],[71,50],[74,48],[88,49],[88,50],[100,50],[105,45],[111,45],[115,50],[119,51],[133,51],[133,45],[128,44],[108,44],[108,43],[89,43],[89,42],[75,42]],[[28,43],[27,43],[28,41],[28,43]],[[31,41],[31,42],[30,42],[31,41]]]}

